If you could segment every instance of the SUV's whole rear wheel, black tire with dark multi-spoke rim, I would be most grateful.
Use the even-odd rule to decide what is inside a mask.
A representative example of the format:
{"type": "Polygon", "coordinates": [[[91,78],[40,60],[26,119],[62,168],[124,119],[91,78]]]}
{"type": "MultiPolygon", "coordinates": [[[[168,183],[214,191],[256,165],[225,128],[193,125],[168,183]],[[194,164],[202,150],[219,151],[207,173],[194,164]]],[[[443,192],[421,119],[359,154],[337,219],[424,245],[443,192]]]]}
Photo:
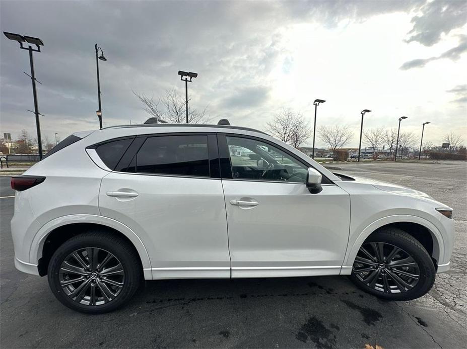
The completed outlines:
{"type": "Polygon", "coordinates": [[[142,282],[135,249],[122,238],[101,231],[66,240],[52,255],[47,275],[50,289],[61,303],[87,314],[119,308],[142,282]]]}

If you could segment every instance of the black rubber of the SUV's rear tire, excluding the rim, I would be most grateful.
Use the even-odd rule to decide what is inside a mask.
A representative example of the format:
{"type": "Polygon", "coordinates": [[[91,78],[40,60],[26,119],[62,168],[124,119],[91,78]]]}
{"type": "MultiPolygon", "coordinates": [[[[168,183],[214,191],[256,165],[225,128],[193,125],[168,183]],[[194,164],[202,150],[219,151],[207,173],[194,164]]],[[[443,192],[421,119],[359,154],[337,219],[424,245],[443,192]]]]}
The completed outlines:
{"type": "Polygon", "coordinates": [[[115,238],[111,237],[108,239],[106,237],[106,234],[78,235],[64,242],[52,255],[47,273],[49,286],[55,297],[65,306],[83,313],[105,313],[120,307],[138,289],[141,280],[141,270],[138,265],[135,265],[134,251],[124,241],[119,239],[119,241],[117,240],[119,243],[115,243],[115,238]],[[123,288],[117,297],[107,304],[96,306],[79,304],[68,297],[61,289],[58,272],[64,258],[73,251],[86,247],[97,247],[112,253],[123,267],[125,273],[123,288]]]}

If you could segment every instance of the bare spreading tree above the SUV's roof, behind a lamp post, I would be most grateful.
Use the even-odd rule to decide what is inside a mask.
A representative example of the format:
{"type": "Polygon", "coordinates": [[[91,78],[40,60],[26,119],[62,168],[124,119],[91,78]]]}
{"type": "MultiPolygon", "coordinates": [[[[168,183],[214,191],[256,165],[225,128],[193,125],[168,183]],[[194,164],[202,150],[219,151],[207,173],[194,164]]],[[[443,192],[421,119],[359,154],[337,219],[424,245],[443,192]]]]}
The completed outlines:
{"type": "MultiPolygon", "coordinates": [[[[154,94],[149,97],[144,94],[138,94],[133,91],[133,94],[143,103],[143,109],[152,117],[158,120],[165,119],[172,124],[184,124],[186,122],[186,105],[185,99],[175,90],[166,90],[165,95],[158,99],[154,98],[154,94]]],[[[190,107],[188,104],[188,123],[198,124],[209,122],[207,108],[198,111],[190,107]]]]}

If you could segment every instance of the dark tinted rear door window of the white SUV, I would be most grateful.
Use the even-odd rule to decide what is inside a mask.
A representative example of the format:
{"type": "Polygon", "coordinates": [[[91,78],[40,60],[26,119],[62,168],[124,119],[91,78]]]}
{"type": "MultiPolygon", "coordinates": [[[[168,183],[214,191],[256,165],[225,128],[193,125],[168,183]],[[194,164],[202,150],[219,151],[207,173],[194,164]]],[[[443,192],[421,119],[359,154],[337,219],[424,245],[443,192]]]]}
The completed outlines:
{"type": "Polygon", "coordinates": [[[209,177],[208,136],[149,137],[137,154],[137,172],[209,177]]]}

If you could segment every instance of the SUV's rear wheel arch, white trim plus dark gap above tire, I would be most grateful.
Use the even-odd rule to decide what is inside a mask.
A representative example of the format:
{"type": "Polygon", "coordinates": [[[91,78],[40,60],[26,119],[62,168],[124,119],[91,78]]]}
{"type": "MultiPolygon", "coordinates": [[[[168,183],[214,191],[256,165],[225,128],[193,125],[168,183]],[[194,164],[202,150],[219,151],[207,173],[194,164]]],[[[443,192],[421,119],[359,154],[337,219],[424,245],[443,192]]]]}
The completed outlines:
{"type": "Polygon", "coordinates": [[[105,222],[105,217],[95,216],[95,219],[93,217],[88,216],[87,219],[84,217],[79,217],[79,219],[76,219],[77,217],[68,217],[68,219],[61,217],[57,219],[58,222],[52,221],[47,223],[36,234],[30,250],[30,260],[32,263],[38,263],[39,275],[44,276],[47,274],[48,263],[58,246],[76,235],[98,230],[119,236],[134,248],[140,257],[145,279],[151,279],[149,254],[136,233],[112,219],[108,219],[109,222],[105,222]],[[102,220],[104,222],[101,222],[102,220]]]}

